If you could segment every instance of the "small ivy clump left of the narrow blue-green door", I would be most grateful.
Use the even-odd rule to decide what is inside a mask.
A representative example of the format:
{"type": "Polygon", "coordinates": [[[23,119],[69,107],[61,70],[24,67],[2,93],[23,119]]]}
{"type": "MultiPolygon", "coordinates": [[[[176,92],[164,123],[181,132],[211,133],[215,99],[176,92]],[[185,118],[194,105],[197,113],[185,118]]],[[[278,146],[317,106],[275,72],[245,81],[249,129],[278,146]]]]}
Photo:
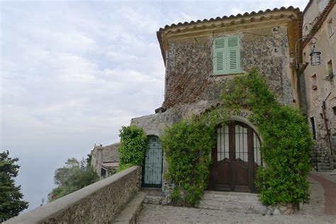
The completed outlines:
{"type": "Polygon", "coordinates": [[[132,165],[142,166],[147,149],[147,135],[135,125],[123,126],[120,130],[121,146],[119,147],[120,157],[118,171],[131,167],[132,165]]]}

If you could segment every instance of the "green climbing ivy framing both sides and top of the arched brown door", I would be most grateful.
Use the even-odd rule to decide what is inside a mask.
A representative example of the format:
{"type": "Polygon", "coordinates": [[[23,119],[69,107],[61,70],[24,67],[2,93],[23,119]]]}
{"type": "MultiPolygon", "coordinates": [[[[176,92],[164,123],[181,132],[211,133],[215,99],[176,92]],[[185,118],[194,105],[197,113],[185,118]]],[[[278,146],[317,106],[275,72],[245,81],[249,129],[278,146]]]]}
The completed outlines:
{"type": "Polygon", "coordinates": [[[164,130],[162,145],[169,164],[172,201],[194,206],[208,184],[215,125],[230,122],[230,113],[249,109],[251,123],[263,142],[265,167],[257,170],[256,185],[265,205],[308,203],[310,150],[313,141],[306,118],[297,108],[283,106],[256,69],[228,80],[220,106],[201,116],[175,123],[164,130]]]}

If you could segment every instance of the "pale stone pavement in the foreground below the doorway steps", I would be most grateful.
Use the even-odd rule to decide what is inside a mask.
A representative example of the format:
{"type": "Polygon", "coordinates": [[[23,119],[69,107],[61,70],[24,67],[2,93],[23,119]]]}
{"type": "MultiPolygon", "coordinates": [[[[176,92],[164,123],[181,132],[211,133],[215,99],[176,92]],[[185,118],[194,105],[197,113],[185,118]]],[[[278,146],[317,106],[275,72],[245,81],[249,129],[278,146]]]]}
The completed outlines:
{"type": "Polygon", "coordinates": [[[294,215],[262,215],[244,211],[185,208],[144,204],[138,223],[335,223],[336,215],[324,214],[323,186],[315,179],[310,182],[310,203],[301,206],[294,215]]]}

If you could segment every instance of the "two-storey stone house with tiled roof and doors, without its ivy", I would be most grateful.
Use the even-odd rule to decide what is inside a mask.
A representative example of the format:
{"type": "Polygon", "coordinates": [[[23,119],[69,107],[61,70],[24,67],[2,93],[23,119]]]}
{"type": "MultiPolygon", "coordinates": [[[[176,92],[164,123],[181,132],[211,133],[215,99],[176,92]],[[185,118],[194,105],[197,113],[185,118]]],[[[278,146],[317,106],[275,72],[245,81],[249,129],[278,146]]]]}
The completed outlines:
{"type": "MultiPolygon", "coordinates": [[[[155,114],[131,121],[149,136],[142,186],[161,187],[167,196],[167,183],[162,178],[167,162],[158,138],[162,128],[218,105],[222,84],[248,68],[259,69],[280,103],[299,105],[293,52],[301,38],[302,16],[299,9],[282,7],[159,29],[157,38],[165,65],[164,102],[155,114]]],[[[233,113],[233,123],[219,124],[211,189],[254,192],[254,168],[262,165],[261,139],[257,127],[247,119],[249,113],[233,113]],[[232,144],[234,141],[241,144],[232,144]],[[230,162],[233,160],[235,164],[230,162]],[[235,169],[228,169],[231,166],[235,169]]]]}

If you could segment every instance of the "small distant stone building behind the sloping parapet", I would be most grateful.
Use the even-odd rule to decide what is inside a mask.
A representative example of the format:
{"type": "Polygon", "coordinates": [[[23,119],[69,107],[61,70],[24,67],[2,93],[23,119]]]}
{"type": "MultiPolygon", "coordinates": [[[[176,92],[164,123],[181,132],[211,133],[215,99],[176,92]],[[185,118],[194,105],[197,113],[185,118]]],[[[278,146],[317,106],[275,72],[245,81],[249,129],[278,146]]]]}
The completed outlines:
{"type": "Polygon", "coordinates": [[[120,143],[112,145],[94,145],[91,151],[91,167],[101,179],[110,177],[119,168],[120,143]]]}

